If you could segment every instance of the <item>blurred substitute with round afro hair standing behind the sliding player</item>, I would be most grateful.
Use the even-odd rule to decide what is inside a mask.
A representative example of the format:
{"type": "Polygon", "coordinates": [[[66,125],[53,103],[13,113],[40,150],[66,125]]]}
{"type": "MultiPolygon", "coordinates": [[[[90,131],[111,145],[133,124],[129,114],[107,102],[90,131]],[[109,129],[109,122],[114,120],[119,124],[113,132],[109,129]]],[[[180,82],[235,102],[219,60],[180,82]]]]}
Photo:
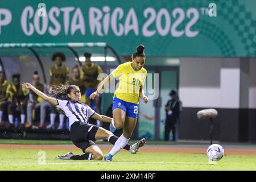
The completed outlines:
{"type": "MultiPolygon", "coordinates": [[[[69,77],[69,68],[63,64],[63,62],[66,60],[66,56],[64,55],[64,53],[62,52],[56,52],[52,55],[52,61],[54,61],[55,65],[53,65],[53,67],[51,67],[51,69],[49,70],[49,75],[51,76],[51,80],[49,83],[49,92],[51,94],[51,86],[52,85],[61,85],[61,84],[65,84],[65,82],[68,81],[68,77],[69,77]]],[[[45,102],[45,101],[44,101],[45,102]]],[[[40,109],[43,110],[44,108],[46,108],[46,106],[49,106],[48,103],[44,103],[42,104],[42,108],[40,109]]],[[[54,106],[51,106],[51,114],[50,114],[50,124],[46,127],[47,129],[55,129],[55,118],[56,118],[56,108],[54,106]]],[[[44,116],[42,115],[42,119],[45,118],[45,113],[46,111],[42,112],[44,114],[44,116]]],[[[63,123],[64,123],[64,119],[65,119],[65,115],[64,114],[60,114],[59,115],[60,118],[60,123],[59,126],[57,127],[58,130],[63,129],[63,123]]],[[[41,121],[42,121],[41,119],[41,121]]]]}

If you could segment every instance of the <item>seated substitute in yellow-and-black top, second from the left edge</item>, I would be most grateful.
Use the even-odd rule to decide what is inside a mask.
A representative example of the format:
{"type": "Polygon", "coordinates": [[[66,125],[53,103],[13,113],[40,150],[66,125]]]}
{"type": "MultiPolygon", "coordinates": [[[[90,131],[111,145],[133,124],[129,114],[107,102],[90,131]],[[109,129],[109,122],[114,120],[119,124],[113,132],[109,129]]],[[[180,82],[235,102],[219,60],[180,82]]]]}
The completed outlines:
{"type": "MultiPolygon", "coordinates": [[[[16,73],[13,75],[13,85],[7,89],[7,93],[9,94],[9,101],[11,102],[8,105],[8,118],[10,125],[7,127],[14,127],[14,114],[16,115],[16,111],[20,111],[20,128],[24,127],[25,119],[26,119],[26,106],[28,101],[28,90],[22,88],[20,84],[20,74],[16,73]]],[[[18,115],[16,115],[18,118],[18,115]]]]}

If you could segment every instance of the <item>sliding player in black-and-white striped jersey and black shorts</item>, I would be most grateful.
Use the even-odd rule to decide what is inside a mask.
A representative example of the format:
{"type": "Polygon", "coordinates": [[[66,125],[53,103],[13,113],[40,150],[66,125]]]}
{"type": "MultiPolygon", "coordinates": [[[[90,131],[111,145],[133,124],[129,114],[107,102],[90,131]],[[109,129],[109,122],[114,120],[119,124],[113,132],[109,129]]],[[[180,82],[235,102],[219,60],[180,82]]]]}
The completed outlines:
{"type": "MultiPolygon", "coordinates": [[[[53,86],[52,97],[47,96],[40,90],[36,89],[29,83],[24,83],[23,88],[30,89],[35,92],[43,100],[49,102],[49,104],[59,107],[64,111],[65,115],[69,118],[70,138],[75,146],[81,148],[85,153],[83,155],[73,155],[72,152],[68,152],[63,156],[58,156],[56,159],[72,159],[72,160],[102,160],[102,151],[93,140],[105,139],[110,143],[115,144],[118,137],[113,135],[110,131],[88,124],[88,119],[98,119],[102,122],[111,122],[112,118],[100,115],[92,110],[88,105],[80,102],[81,93],[80,89],[76,85],[61,85],[53,86]],[[60,100],[59,98],[64,98],[60,100]]],[[[142,147],[145,143],[144,139],[139,140],[137,143],[130,146],[126,144],[126,150],[132,154],[136,154],[139,147],[142,147]]]]}

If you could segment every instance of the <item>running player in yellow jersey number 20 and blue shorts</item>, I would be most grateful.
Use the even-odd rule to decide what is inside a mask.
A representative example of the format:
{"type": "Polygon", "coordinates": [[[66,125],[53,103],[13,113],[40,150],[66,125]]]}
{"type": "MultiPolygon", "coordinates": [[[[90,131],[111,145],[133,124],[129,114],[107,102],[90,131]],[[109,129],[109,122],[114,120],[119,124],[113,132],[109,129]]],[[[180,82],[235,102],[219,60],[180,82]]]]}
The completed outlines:
{"type": "Polygon", "coordinates": [[[148,102],[143,91],[147,76],[147,71],[143,68],[145,59],[144,46],[139,45],[132,55],[133,61],[119,65],[101,82],[96,92],[90,95],[90,99],[98,97],[112,79],[119,77],[119,87],[113,97],[113,121],[110,130],[123,128],[123,134],[105,156],[106,161],[112,161],[112,157],[129,141],[138,118],[139,98],[145,103],[148,102]]]}

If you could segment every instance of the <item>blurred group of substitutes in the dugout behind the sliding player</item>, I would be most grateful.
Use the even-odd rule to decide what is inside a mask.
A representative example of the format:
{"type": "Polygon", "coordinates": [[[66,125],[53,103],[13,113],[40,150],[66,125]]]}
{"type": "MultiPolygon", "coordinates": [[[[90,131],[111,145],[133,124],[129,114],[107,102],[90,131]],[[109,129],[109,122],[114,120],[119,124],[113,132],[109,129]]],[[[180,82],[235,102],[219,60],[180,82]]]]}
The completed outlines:
{"type": "MultiPolygon", "coordinates": [[[[71,76],[69,76],[70,68],[64,64],[66,60],[64,53],[54,53],[51,57],[53,65],[49,69],[49,84],[46,85],[40,80],[38,71],[35,71],[34,75],[31,76],[31,84],[49,95],[51,95],[53,85],[77,85],[82,95],[81,102],[86,103],[97,113],[100,113],[101,97],[90,101],[89,96],[96,91],[99,83],[97,77],[103,71],[99,65],[92,63],[91,53],[86,52],[84,56],[85,62],[81,69],[78,65],[75,65],[71,70],[71,76]]],[[[30,90],[22,88],[19,73],[15,73],[12,76],[12,81],[8,82],[5,73],[0,72],[0,127],[63,130],[68,127],[68,123],[65,125],[66,122],[68,122],[68,119],[54,106],[42,100],[35,93],[30,92],[30,90]],[[4,117],[9,122],[3,123],[4,117]],[[59,125],[55,125],[57,119],[59,119],[59,125]],[[49,121],[49,123],[46,125],[45,121],[49,121]]]]}

